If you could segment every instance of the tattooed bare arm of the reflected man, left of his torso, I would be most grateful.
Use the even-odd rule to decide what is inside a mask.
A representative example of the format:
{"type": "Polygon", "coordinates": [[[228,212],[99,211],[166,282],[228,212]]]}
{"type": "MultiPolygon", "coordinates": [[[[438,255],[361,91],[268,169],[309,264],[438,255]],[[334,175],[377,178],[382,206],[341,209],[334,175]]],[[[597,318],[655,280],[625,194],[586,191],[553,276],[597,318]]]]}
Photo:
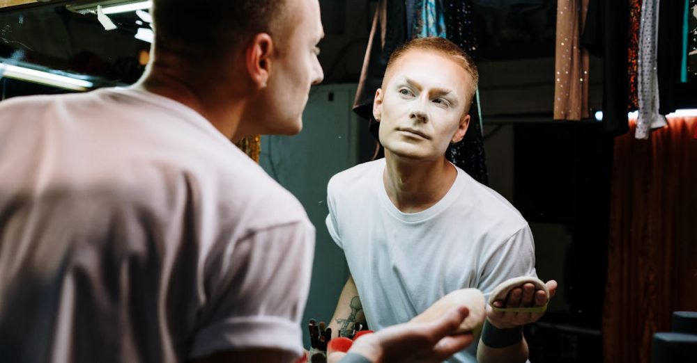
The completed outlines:
{"type": "Polygon", "coordinates": [[[334,311],[332,321],[329,322],[329,328],[332,328],[332,338],[335,337],[351,337],[353,329],[357,328],[356,324],[365,325],[365,315],[363,307],[358,296],[358,289],[355,287],[353,277],[348,276],[348,280],[339,295],[337,309],[334,311]]]}

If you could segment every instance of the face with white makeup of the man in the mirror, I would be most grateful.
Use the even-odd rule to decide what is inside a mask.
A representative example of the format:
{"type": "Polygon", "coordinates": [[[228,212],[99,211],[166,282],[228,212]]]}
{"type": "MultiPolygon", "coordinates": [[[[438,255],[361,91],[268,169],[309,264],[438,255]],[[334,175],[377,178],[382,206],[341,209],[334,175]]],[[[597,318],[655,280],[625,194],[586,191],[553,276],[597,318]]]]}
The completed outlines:
{"type": "Polygon", "coordinates": [[[467,131],[469,74],[445,55],[412,49],[388,77],[373,107],[385,150],[407,159],[443,157],[447,146],[467,131]]]}

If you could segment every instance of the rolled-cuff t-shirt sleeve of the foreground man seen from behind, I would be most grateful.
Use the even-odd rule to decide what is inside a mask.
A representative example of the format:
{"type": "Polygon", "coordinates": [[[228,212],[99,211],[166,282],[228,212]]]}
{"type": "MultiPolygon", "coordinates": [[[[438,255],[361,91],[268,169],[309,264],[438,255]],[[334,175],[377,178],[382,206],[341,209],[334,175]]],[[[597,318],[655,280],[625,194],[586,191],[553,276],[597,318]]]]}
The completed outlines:
{"type": "Polygon", "coordinates": [[[300,221],[256,231],[214,258],[190,358],[250,348],[300,357],[313,253],[314,227],[300,221]]]}

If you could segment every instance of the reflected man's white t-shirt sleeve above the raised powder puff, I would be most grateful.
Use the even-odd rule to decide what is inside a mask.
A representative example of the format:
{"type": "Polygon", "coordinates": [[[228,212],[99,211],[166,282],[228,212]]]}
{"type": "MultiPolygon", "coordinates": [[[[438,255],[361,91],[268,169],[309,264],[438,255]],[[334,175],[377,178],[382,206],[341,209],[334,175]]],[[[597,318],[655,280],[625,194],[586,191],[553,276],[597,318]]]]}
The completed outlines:
{"type": "Polygon", "coordinates": [[[477,286],[487,301],[493,289],[505,280],[521,276],[537,277],[533,232],[527,223],[505,242],[492,247],[491,252],[485,255],[477,286]]]}

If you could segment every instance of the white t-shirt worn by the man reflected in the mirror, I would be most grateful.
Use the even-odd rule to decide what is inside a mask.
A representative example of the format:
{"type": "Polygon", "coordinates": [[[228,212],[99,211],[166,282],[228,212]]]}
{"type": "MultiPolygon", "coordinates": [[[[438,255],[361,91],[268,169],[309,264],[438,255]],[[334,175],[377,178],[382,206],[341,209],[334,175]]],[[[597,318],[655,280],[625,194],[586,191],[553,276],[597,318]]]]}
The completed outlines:
{"type": "MultiPolygon", "coordinates": [[[[495,191],[457,168],[446,195],[402,213],[383,184],[385,159],[340,172],[328,185],[332,239],[344,250],[369,328],[411,320],[447,293],[535,276],[528,223],[495,191]]],[[[449,362],[473,362],[476,344],[449,362]]]]}

